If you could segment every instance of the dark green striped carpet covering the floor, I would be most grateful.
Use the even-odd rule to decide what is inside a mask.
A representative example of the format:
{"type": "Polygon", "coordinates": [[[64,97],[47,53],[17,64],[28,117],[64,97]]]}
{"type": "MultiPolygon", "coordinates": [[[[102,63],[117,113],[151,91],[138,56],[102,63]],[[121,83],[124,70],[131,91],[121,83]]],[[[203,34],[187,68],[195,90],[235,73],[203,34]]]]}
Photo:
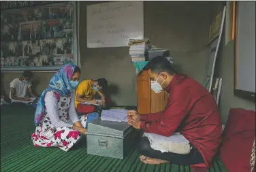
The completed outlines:
{"type": "MultiPolygon", "coordinates": [[[[26,105],[1,106],[1,171],[192,171],[172,163],[145,165],[140,163],[136,150],[124,160],[89,155],[85,139],[69,152],[34,147],[34,112],[35,108],[26,105]]],[[[227,170],[217,158],[209,171],[227,170]]]]}

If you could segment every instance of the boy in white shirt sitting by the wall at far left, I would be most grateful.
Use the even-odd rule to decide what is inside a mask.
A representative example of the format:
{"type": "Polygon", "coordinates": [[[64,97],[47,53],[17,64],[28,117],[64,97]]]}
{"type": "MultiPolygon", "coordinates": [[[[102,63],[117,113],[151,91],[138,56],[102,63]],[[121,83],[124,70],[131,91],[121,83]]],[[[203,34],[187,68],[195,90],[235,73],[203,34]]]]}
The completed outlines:
{"type": "Polygon", "coordinates": [[[22,77],[18,77],[10,83],[10,99],[12,102],[29,102],[30,98],[37,98],[37,95],[31,89],[32,77],[33,73],[30,70],[25,70],[22,77]],[[29,90],[29,96],[27,95],[27,90],[29,90]]]}

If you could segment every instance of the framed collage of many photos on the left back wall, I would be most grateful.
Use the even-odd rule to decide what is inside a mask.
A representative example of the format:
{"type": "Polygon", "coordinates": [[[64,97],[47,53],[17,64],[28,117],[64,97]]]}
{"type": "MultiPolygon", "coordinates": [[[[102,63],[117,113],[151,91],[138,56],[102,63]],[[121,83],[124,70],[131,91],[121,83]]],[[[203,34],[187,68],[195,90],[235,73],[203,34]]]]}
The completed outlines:
{"type": "Polygon", "coordinates": [[[73,5],[1,12],[1,68],[74,62],[73,5]]]}

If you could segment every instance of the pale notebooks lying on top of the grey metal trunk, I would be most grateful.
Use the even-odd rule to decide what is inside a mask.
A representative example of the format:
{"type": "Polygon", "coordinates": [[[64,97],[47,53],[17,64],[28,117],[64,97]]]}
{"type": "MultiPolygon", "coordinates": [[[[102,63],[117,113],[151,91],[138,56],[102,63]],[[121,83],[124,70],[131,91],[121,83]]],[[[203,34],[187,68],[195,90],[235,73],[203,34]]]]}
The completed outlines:
{"type": "Polygon", "coordinates": [[[128,122],[126,109],[110,109],[102,110],[101,120],[102,121],[115,121],[115,122],[128,122]]]}

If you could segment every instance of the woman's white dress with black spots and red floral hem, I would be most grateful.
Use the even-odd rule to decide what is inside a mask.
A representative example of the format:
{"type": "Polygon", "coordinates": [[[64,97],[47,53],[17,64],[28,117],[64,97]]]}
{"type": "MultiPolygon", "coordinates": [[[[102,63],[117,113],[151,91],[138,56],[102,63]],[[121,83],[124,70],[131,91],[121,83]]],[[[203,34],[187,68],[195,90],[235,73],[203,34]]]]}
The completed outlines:
{"type": "MultiPolygon", "coordinates": [[[[69,113],[71,113],[73,119],[78,120],[76,111],[72,112],[69,109],[74,108],[71,107],[74,106],[74,101],[71,100],[74,96],[70,95],[62,98],[58,93],[54,93],[54,95],[57,98],[59,122],[65,123],[65,127],[54,127],[50,120],[52,119],[50,116],[51,114],[49,113],[50,110],[47,110],[46,107],[48,106],[45,106],[44,119],[37,125],[35,133],[31,135],[31,139],[35,146],[59,147],[62,150],[67,151],[82,137],[82,134],[79,131],[72,129],[73,123],[76,121],[72,121],[70,118],[71,116],[69,116],[69,113]]],[[[80,116],[79,120],[82,123],[82,127],[85,128],[87,116],[80,116]]]]}

